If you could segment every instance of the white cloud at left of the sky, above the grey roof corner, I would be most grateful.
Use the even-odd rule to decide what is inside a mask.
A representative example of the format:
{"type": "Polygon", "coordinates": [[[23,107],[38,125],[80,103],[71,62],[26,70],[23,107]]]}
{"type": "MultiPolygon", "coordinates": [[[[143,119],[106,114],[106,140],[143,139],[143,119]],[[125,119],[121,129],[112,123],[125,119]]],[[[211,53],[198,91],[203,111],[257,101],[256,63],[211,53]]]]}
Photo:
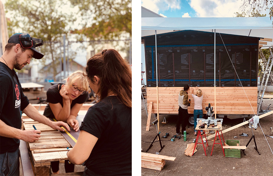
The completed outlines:
{"type": "Polygon", "coordinates": [[[141,6],[158,13],[165,10],[180,9],[180,0],[141,0],[141,6]]]}

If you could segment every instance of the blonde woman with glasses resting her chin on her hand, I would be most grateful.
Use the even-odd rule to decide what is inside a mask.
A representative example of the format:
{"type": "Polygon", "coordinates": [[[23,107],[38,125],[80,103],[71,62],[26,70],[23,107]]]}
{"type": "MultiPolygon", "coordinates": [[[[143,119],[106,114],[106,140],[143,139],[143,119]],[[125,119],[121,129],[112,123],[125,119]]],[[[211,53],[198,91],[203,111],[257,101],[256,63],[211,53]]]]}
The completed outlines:
{"type": "MultiPolygon", "coordinates": [[[[88,99],[88,82],[82,71],[76,71],[65,79],[65,84],[54,84],[46,92],[47,102],[44,116],[66,122],[73,130],[79,130],[76,116],[82,104],[88,99]]],[[[59,161],[51,162],[54,174],[59,174],[59,161]]],[[[64,162],[67,172],[74,172],[74,164],[64,162]]]]}

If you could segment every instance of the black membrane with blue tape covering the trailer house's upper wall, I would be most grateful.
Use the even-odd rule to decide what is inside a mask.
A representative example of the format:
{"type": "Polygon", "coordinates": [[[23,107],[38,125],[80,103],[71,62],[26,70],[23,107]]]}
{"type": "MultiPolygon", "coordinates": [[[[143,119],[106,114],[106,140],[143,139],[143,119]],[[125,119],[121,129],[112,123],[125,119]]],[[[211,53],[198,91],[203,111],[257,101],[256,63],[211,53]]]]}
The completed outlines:
{"type": "MultiPolygon", "coordinates": [[[[155,35],[142,39],[146,48],[147,86],[155,87],[155,35]]],[[[257,86],[258,45],[258,37],[216,33],[216,86],[257,86]]],[[[159,87],[214,86],[213,32],[184,30],[158,34],[157,54],[159,87]]]]}

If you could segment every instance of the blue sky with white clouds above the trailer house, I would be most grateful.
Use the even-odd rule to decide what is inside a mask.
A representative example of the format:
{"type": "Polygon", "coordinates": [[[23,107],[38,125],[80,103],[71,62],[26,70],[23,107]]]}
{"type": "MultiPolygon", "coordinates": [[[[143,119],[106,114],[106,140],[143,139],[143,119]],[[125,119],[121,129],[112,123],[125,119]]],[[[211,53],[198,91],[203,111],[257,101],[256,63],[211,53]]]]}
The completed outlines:
{"type": "MultiPolygon", "coordinates": [[[[141,0],[141,6],[164,17],[234,17],[242,0],[141,0]]],[[[268,10],[264,11],[266,16],[268,10]]]]}

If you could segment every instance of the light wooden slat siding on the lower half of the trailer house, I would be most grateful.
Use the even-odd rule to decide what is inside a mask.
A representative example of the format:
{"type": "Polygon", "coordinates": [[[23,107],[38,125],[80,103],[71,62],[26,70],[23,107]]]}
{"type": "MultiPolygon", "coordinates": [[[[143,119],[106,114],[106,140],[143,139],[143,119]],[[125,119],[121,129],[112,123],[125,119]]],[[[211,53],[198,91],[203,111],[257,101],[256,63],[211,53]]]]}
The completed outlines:
{"type": "MultiPolygon", "coordinates": [[[[203,93],[203,113],[205,108],[210,105],[214,108],[214,87],[200,87],[203,93]]],[[[247,96],[242,87],[216,87],[216,105],[217,114],[253,114],[257,112],[257,87],[244,87],[247,96]],[[248,99],[251,104],[249,104],[248,99]],[[252,108],[253,110],[252,110],[252,108]]],[[[183,87],[158,87],[159,94],[159,113],[177,114],[178,113],[178,95],[183,87]]],[[[194,93],[196,90],[194,90],[194,93]]],[[[188,112],[193,114],[194,99],[191,96],[191,90],[188,91],[191,106],[188,112]]],[[[152,113],[156,110],[156,87],[147,87],[147,104],[153,101],[152,113]]]]}

